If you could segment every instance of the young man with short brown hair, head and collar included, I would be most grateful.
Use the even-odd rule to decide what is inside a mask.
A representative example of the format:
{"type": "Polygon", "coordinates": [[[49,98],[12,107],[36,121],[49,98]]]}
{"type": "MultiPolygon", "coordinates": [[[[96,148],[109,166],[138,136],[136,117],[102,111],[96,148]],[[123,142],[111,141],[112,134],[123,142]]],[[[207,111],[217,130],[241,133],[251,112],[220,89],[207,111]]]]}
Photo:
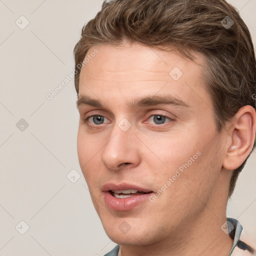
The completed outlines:
{"type": "Polygon", "coordinates": [[[226,203],[254,148],[250,33],[224,0],[105,1],[74,48],[77,150],[106,255],[252,255],[226,203]]]}

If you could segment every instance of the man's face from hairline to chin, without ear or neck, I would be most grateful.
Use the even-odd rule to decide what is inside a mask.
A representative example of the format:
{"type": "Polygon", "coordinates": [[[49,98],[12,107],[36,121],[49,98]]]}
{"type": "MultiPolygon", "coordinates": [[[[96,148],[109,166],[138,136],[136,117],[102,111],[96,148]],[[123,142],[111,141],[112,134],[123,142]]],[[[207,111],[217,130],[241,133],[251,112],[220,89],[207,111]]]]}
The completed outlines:
{"type": "Polygon", "coordinates": [[[204,214],[218,184],[221,134],[200,78],[205,60],[136,43],[87,55],[97,50],[81,69],[77,101],[92,202],[114,242],[168,240],[204,214]]]}

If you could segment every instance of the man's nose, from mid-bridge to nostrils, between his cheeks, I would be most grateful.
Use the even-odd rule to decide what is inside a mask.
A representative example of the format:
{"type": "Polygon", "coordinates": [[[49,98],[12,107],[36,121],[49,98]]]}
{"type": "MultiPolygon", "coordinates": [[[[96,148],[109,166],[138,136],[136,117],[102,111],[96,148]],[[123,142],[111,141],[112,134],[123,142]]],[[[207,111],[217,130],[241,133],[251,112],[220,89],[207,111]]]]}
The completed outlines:
{"type": "Polygon", "coordinates": [[[133,134],[132,126],[123,131],[117,124],[114,125],[108,142],[103,147],[101,161],[111,170],[119,170],[127,165],[130,168],[139,164],[139,141],[133,134]]]}

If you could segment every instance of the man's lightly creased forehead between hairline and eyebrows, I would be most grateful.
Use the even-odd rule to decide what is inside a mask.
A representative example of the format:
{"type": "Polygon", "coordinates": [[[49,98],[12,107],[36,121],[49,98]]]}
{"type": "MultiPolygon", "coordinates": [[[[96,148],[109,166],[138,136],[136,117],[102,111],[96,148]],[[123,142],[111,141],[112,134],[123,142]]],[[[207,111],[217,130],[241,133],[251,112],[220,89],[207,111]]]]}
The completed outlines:
{"type": "Polygon", "coordinates": [[[186,102],[201,104],[203,102],[199,101],[204,101],[204,104],[211,105],[202,80],[205,58],[199,53],[193,52],[196,59],[192,61],[174,50],[156,50],[138,43],[126,43],[121,46],[96,45],[86,56],[95,49],[98,53],[81,69],[79,95],[96,98],[99,92],[104,97],[104,92],[111,98],[119,94],[127,99],[143,93],[172,93],[186,102]]]}

